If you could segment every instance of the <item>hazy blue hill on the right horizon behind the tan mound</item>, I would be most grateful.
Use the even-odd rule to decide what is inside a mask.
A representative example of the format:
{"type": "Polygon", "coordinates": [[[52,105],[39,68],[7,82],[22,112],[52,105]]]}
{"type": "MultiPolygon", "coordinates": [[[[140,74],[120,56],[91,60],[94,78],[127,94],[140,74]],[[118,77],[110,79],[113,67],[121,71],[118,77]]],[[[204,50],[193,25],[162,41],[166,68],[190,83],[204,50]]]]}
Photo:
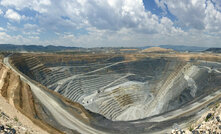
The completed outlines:
{"type": "Polygon", "coordinates": [[[173,49],[175,51],[190,51],[190,52],[200,52],[208,49],[207,47],[197,47],[197,46],[175,46],[175,45],[160,45],[161,48],[173,49]]]}

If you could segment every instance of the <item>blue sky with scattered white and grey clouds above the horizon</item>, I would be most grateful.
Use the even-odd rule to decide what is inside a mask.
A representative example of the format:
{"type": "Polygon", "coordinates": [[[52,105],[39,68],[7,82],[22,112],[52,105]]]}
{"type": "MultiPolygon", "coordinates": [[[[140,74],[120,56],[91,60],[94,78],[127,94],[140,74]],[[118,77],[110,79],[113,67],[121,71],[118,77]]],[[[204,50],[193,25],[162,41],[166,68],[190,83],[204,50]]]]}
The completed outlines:
{"type": "Polygon", "coordinates": [[[221,47],[221,0],[0,0],[0,44],[221,47]]]}

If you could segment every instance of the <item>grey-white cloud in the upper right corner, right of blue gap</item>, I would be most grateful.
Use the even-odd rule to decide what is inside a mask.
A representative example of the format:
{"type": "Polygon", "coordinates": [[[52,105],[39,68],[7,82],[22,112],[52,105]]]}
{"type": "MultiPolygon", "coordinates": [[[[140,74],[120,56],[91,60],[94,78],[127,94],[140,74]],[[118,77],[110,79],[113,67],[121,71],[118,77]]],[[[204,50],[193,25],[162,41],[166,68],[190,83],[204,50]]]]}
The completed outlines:
{"type": "Polygon", "coordinates": [[[168,8],[169,12],[177,17],[179,26],[219,34],[221,29],[220,0],[155,0],[155,2],[163,10],[168,8]]]}

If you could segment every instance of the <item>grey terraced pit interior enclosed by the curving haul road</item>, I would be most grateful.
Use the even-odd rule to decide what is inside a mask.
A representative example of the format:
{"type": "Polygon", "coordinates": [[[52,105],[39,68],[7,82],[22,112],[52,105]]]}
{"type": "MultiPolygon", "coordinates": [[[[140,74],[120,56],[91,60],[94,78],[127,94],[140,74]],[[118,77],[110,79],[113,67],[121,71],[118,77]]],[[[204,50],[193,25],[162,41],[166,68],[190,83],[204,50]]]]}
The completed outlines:
{"type": "Polygon", "coordinates": [[[221,85],[217,62],[124,56],[13,56],[24,74],[113,121],[184,107],[221,85]]]}

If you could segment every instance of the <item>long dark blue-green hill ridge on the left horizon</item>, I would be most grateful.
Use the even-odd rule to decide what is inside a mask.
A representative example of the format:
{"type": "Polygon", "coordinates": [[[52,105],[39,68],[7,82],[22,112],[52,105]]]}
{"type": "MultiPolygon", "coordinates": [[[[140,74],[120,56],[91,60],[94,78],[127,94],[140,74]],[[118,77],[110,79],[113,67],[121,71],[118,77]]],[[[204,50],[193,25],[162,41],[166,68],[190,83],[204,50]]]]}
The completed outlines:
{"type": "Polygon", "coordinates": [[[78,47],[0,44],[0,51],[54,52],[76,50],[78,47]]]}

